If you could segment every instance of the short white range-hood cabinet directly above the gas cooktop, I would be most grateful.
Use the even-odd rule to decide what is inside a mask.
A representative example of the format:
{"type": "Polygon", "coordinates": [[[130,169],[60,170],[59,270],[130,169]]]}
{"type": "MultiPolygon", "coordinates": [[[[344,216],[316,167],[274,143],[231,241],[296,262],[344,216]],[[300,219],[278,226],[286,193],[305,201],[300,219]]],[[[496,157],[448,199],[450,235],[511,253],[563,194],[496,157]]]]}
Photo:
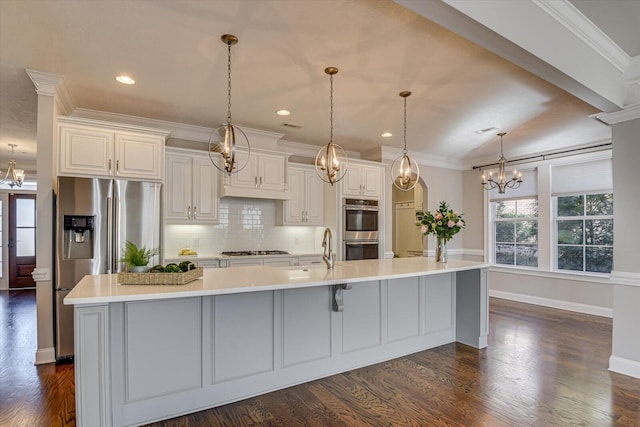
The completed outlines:
{"type": "MultiPolygon", "coordinates": [[[[249,161],[239,172],[223,174],[221,196],[254,197],[263,199],[288,199],[287,153],[252,149],[249,161]]],[[[242,167],[247,159],[246,151],[237,151],[237,164],[242,167]]]]}

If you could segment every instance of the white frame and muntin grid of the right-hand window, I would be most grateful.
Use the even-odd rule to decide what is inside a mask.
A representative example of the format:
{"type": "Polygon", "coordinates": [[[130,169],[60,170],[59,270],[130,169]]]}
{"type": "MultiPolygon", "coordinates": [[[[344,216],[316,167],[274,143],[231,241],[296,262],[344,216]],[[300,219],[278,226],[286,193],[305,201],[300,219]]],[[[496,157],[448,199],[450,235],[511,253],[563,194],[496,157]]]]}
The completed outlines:
{"type": "MultiPolygon", "coordinates": [[[[594,276],[602,276],[609,277],[611,272],[599,272],[599,271],[588,271],[586,270],[586,248],[587,247],[604,247],[611,248],[613,251],[614,244],[611,245],[587,245],[586,244],[586,227],[585,221],[587,220],[611,220],[614,221],[615,215],[615,207],[614,211],[611,215],[587,215],[587,204],[586,204],[586,196],[596,195],[596,194],[611,194],[613,201],[613,191],[611,190],[596,190],[596,191],[581,191],[576,193],[567,193],[567,194],[556,194],[551,196],[551,214],[552,214],[552,244],[551,244],[551,259],[552,259],[552,271],[557,273],[568,273],[568,274],[579,274],[579,275],[594,275],[594,276]],[[582,196],[583,197],[583,212],[580,216],[558,216],[558,198],[559,197],[575,197],[582,196]],[[582,221],[582,243],[581,244],[559,244],[558,243],[558,221],[582,221]],[[558,268],[558,247],[560,246],[581,246],[582,247],[582,270],[565,270],[558,268]]],[[[613,239],[613,231],[611,235],[613,239]]],[[[613,255],[612,255],[612,268],[613,271],[613,255]]]]}

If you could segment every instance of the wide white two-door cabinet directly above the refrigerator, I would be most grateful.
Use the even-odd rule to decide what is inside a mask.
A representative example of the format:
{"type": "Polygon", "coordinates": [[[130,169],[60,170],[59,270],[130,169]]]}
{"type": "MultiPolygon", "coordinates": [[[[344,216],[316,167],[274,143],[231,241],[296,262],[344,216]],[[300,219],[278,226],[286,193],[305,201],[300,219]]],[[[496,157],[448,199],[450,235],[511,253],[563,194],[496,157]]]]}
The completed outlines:
{"type": "Polygon", "coordinates": [[[58,174],[162,181],[167,132],[59,117],[58,174]]]}

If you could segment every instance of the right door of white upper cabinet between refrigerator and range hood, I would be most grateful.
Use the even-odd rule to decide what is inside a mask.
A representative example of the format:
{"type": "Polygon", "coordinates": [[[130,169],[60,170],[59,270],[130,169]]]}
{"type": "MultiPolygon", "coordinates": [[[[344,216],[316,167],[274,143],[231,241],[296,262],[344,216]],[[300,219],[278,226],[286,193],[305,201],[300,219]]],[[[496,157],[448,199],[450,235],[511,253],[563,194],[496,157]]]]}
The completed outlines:
{"type": "Polygon", "coordinates": [[[218,220],[218,169],[207,158],[193,159],[193,211],[195,222],[218,220]]]}

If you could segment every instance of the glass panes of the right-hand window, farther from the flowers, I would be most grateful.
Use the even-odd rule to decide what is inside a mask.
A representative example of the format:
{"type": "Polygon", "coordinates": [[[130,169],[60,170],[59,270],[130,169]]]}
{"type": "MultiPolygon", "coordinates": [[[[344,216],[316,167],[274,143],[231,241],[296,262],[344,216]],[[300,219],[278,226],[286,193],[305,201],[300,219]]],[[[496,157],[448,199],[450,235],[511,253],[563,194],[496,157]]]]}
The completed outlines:
{"type": "Polygon", "coordinates": [[[613,194],[556,197],[556,268],[611,273],[613,194]]]}

